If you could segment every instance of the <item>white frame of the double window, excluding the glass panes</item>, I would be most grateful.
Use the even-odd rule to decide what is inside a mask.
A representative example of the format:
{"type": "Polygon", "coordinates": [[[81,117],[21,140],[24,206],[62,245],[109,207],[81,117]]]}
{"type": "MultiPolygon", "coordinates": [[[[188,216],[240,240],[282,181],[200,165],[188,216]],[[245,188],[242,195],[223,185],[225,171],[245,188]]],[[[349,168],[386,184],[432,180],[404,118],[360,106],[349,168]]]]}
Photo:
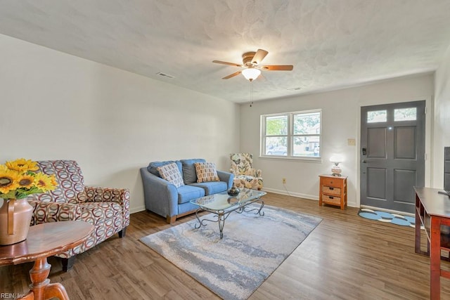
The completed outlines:
{"type": "Polygon", "coordinates": [[[267,158],[276,158],[276,159],[307,159],[307,160],[321,160],[322,156],[322,110],[302,110],[297,112],[282,112],[277,114],[268,114],[260,116],[260,125],[261,125],[261,136],[259,138],[259,156],[267,157],[267,158]],[[302,115],[302,114],[310,114],[311,112],[319,112],[320,116],[320,130],[319,133],[315,134],[293,134],[294,131],[294,116],[302,115]],[[277,136],[266,136],[266,118],[267,117],[288,117],[288,133],[285,135],[280,135],[278,137],[286,137],[287,138],[287,155],[266,155],[266,138],[267,137],[277,137],[277,136]],[[309,156],[309,155],[293,155],[293,144],[294,138],[298,136],[319,136],[319,156],[309,156]]]}

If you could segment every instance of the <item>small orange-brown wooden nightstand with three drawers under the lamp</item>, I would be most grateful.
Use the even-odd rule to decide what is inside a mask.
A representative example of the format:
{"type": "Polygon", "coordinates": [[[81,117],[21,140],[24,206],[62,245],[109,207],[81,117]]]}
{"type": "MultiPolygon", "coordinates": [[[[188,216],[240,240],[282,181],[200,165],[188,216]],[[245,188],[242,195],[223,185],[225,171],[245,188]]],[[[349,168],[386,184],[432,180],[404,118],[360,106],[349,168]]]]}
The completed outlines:
{"type": "Polygon", "coordinates": [[[347,206],[347,176],[322,174],[319,177],[319,206],[325,203],[345,209],[347,206]]]}

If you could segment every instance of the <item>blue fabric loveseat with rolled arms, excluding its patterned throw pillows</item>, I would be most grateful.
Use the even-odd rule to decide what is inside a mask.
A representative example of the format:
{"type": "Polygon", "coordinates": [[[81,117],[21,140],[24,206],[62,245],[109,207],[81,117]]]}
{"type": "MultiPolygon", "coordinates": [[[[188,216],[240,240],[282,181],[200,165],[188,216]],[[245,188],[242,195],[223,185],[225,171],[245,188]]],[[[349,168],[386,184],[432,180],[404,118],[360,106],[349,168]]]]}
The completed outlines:
{"type": "Polygon", "coordinates": [[[167,223],[174,223],[177,218],[191,214],[198,207],[191,200],[224,192],[233,185],[233,174],[217,170],[220,181],[197,183],[195,162],[206,162],[205,159],[180,159],[166,162],[150,162],[148,167],[140,169],[143,195],[146,209],[167,218],[167,223]],[[175,163],[181,172],[184,185],[179,186],[161,178],[158,167],[175,163]]]}

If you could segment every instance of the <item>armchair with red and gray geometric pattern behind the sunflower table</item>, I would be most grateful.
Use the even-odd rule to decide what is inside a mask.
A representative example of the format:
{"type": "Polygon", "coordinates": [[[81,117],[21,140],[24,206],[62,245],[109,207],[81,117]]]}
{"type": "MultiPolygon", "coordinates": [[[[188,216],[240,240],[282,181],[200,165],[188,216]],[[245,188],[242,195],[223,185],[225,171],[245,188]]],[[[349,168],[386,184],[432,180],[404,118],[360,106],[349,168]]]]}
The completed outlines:
{"type": "Polygon", "coordinates": [[[76,254],[115,233],[125,236],[129,226],[128,189],[84,186],[82,170],[73,160],[46,160],[37,164],[44,174],[55,174],[58,188],[27,197],[34,208],[30,225],[58,221],[85,221],[94,225],[84,243],[57,255],[63,259],[63,270],[72,268],[76,254]]]}

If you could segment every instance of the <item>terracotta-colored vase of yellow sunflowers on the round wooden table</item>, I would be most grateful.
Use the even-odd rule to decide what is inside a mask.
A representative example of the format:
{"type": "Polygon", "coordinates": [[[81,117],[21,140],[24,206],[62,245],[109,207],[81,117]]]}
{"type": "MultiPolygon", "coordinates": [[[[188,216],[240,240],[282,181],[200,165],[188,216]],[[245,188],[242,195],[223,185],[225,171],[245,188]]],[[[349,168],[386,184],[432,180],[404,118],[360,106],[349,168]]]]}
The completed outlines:
{"type": "Polygon", "coordinates": [[[33,209],[26,197],[54,190],[57,185],[54,175],[39,172],[37,162],[30,159],[0,164],[0,245],[27,238],[33,209]]]}

